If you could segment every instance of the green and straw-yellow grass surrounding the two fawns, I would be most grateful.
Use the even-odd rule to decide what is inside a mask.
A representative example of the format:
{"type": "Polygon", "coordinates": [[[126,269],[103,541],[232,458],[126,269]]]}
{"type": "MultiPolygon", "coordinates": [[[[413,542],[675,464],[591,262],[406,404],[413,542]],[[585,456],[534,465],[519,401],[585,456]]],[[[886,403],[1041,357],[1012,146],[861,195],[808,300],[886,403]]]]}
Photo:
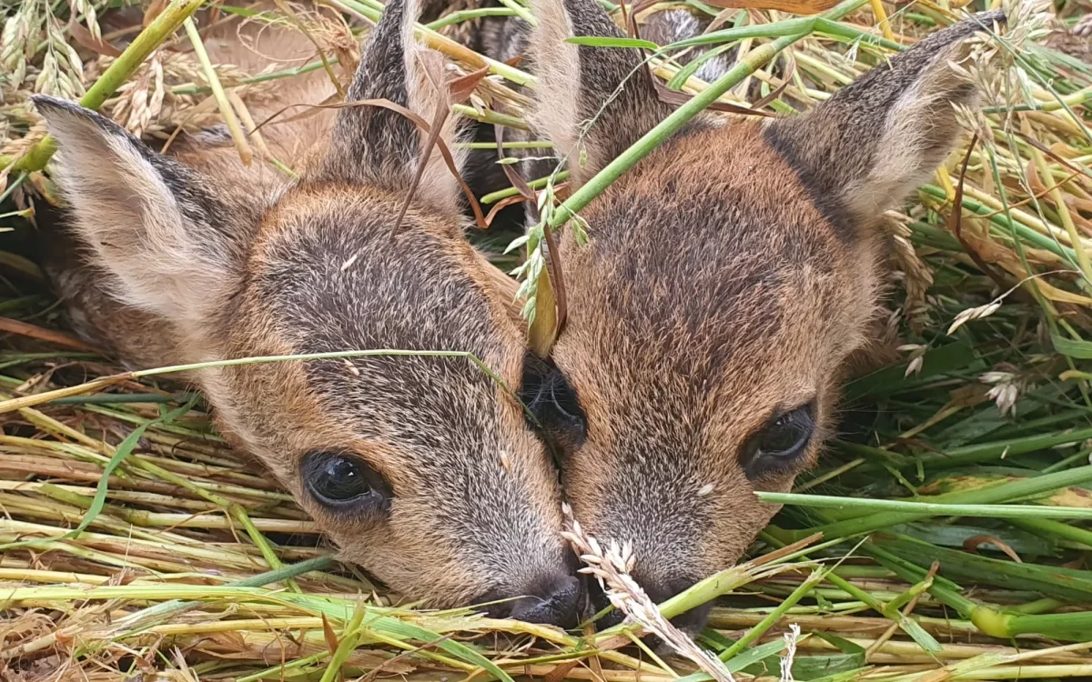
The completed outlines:
{"type": "MultiPolygon", "coordinates": [[[[121,372],[68,336],[27,260],[25,192],[51,191],[40,171],[52,153],[29,92],[84,93],[85,106],[121,116],[135,99],[118,88],[170,43],[182,56],[165,67],[164,104],[145,131],[165,139],[211,96],[324,67],[201,63],[187,51],[200,22],[182,28],[193,0],[167,5],[116,59],[88,51],[73,28],[95,35],[107,3],[31,4],[0,3],[10,20],[0,45],[0,678],[708,679],[634,646],[625,629],[562,633],[400,602],[334,559],[290,495],[216,435],[200,396],[165,370],[121,372]],[[49,39],[20,43],[24,24],[49,39]],[[82,45],[79,69],[66,61],[39,77],[66,41],[82,45]]],[[[351,20],[381,10],[333,4],[351,20]]],[[[556,206],[555,226],[709,103],[745,105],[784,86],[768,106],[791,112],[952,16],[928,0],[887,5],[881,31],[877,4],[846,0],[817,17],[731,11],[726,27],[688,41],[748,46],[715,83],[672,63],[673,50],[657,53],[657,74],[696,97],[556,206]]],[[[1064,23],[1076,8],[1056,5],[1064,23]]],[[[419,32],[465,71],[498,74],[480,86],[492,106],[477,118],[522,125],[526,99],[511,85],[534,80],[442,32],[523,12],[505,2],[419,32]]],[[[698,643],[737,677],[778,678],[790,650],[797,680],[1092,675],[1092,65],[1052,47],[1066,45],[1059,34],[1006,40],[993,61],[1016,75],[990,91],[982,116],[963,115],[975,144],[886,225],[903,360],[846,386],[821,466],[792,493],[767,493],[785,507],[750,561],[662,605],[672,615],[719,599],[698,643]],[[800,635],[786,641],[792,624],[800,635]]],[[[219,116],[201,111],[187,124],[219,116]]],[[[511,237],[480,241],[499,251],[511,237]]],[[[271,360],[293,358],[248,361],[271,360]]]]}

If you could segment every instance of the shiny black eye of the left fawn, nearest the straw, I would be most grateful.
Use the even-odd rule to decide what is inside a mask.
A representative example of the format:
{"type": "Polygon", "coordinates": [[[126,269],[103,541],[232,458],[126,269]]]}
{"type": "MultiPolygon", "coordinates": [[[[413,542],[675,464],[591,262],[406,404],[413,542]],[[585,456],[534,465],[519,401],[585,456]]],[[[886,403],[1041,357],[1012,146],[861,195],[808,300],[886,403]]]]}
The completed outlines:
{"type": "Polygon", "coordinates": [[[390,508],[390,486],[359,457],[313,452],[304,457],[299,468],[304,486],[323,506],[380,513],[390,508]]]}

